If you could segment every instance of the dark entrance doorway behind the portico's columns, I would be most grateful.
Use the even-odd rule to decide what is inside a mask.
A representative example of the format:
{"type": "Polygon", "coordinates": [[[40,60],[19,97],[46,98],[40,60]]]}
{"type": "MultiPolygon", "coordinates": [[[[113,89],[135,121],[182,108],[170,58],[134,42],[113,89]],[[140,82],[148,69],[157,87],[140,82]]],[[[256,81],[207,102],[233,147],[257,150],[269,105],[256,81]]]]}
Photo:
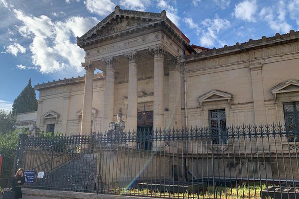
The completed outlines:
{"type": "Polygon", "coordinates": [[[153,111],[138,112],[137,118],[137,148],[151,150],[153,111]]]}

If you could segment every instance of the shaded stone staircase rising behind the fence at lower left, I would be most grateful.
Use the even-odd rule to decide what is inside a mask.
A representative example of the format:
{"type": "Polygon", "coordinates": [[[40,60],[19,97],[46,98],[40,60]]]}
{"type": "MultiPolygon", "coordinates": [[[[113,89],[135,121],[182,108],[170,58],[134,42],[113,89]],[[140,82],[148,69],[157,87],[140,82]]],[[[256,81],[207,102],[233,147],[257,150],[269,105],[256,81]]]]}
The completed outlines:
{"type": "Polygon", "coordinates": [[[66,165],[45,174],[36,185],[51,190],[93,192],[97,182],[97,154],[84,154],[66,165]]]}

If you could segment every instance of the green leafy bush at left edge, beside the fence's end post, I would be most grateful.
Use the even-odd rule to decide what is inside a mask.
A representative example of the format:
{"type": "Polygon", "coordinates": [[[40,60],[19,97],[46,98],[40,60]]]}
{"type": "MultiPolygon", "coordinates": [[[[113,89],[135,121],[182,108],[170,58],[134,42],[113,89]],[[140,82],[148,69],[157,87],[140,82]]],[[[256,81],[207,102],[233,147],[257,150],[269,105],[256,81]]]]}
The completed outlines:
{"type": "Polygon", "coordinates": [[[0,154],[3,156],[0,178],[8,178],[11,176],[17,143],[17,130],[0,134],[0,154]]]}

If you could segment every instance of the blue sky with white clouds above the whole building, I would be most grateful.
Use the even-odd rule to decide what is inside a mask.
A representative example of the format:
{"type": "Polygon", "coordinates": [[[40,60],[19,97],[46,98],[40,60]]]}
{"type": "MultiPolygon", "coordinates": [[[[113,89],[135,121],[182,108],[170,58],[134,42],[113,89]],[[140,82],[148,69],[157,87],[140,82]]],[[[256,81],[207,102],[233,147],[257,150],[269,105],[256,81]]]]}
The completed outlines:
{"type": "Polygon", "coordinates": [[[190,44],[208,48],[299,30],[299,0],[0,0],[0,109],[11,109],[29,78],[36,85],[84,75],[76,36],[116,5],[165,9],[190,44]]]}

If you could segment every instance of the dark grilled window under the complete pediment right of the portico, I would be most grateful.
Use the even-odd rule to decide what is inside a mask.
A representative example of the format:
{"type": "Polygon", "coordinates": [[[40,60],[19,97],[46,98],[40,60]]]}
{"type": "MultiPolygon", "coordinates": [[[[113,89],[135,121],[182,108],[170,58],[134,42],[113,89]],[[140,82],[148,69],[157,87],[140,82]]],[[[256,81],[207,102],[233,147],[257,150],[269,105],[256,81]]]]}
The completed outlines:
{"type": "Polygon", "coordinates": [[[226,118],[225,109],[216,109],[209,111],[209,126],[210,135],[212,136],[213,144],[226,144],[227,131],[226,131],[226,118]]]}

